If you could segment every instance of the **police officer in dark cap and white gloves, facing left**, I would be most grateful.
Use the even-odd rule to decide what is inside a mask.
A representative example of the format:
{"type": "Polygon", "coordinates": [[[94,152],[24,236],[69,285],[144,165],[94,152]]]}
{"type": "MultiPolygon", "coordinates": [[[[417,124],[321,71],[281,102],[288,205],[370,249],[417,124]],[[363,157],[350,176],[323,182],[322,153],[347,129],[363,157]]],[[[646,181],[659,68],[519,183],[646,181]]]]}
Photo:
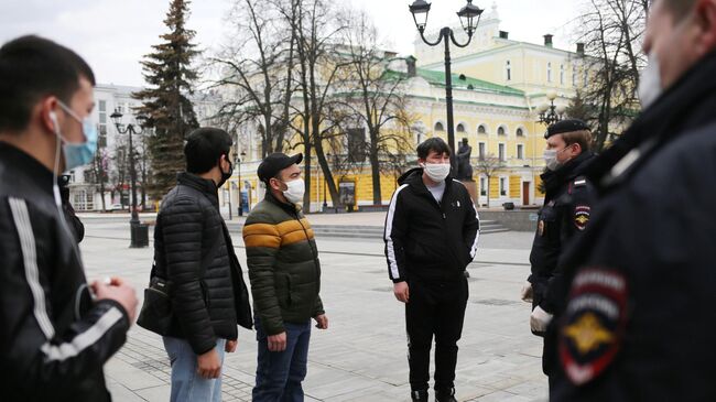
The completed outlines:
{"type": "MultiPolygon", "coordinates": [[[[584,121],[558,121],[547,128],[544,138],[547,170],[541,177],[546,195],[530,253],[532,273],[522,289],[522,300],[532,302],[530,327],[539,336],[544,336],[554,314],[556,301],[551,287],[562,278],[557,270],[560,254],[586,228],[595,198],[594,186],[582,174],[595,159],[584,121]]],[[[547,344],[545,351],[550,349],[547,344]]],[[[547,356],[545,352],[543,370],[551,377],[555,361],[547,356]]]]}

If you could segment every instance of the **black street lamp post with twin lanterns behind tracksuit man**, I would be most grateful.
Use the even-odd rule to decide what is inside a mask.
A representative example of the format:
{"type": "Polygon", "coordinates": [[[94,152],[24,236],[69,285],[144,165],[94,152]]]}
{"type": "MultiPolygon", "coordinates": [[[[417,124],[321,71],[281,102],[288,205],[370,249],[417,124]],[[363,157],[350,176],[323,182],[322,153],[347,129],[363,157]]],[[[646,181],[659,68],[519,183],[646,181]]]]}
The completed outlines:
{"type": "Polygon", "coordinates": [[[470,44],[473,40],[473,34],[477,30],[477,25],[480,21],[480,15],[482,15],[482,9],[473,4],[473,0],[467,0],[467,4],[457,12],[457,15],[460,19],[460,24],[463,30],[467,33],[467,42],[464,44],[458,43],[455,40],[455,34],[449,26],[445,26],[440,31],[437,40],[435,42],[430,42],[425,39],[424,32],[425,26],[427,25],[427,13],[430,12],[431,4],[424,0],[415,0],[411,6],[409,6],[410,12],[413,14],[413,20],[415,21],[415,26],[420,32],[420,37],[428,46],[437,46],[442,41],[445,42],[445,102],[447,104],[447,143],[451,148],[451,165],[453,171],[456,170],[455,165],[455,123],[453,121],[453,77],[451,73],[451,50],[449,43],[457,47],[466,47],[470,44]]]}

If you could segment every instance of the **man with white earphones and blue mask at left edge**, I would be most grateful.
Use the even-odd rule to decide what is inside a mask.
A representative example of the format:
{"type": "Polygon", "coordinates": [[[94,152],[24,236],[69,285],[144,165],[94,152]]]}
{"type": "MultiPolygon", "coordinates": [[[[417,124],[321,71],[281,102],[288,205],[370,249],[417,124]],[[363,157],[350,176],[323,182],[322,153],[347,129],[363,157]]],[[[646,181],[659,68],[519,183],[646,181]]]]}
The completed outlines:
{"type": "Polygon", "coordinates": [[[91,161],[94,75],[23,36],[0,47],[0,399],[109,401],[102,366],[124,344],[134,290],[87,284],[57,175],[91,161]]]}

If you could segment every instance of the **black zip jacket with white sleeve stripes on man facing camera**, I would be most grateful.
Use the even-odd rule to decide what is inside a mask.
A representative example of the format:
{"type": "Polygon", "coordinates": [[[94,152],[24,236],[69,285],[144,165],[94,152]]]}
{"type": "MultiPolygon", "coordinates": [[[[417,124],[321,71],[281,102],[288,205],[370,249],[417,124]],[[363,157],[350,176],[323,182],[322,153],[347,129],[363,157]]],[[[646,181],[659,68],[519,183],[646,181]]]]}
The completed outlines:
{"type": "Polygon", "coordinates": [[[467,188],[447,177],[438,204],[422,176],[419,167],[398,180],[386,217],[388,272],[395,283],[462,279],[477,251],[480,222],[467,188]]]}

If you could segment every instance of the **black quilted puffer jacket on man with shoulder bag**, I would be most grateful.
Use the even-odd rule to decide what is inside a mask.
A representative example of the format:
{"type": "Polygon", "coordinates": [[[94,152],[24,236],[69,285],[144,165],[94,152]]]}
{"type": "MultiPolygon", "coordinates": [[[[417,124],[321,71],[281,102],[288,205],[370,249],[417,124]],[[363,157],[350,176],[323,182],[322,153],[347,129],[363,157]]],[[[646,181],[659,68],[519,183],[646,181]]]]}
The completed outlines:
{"type": "Polygon", "coordinates": [[[227,246],[216,185],[189,173],[177,178],[156,217],[154,261],[171,283],[176,323],[169,335],[188,340],[202,355],[217,338],[236,339],[237,323],[251,328],[251,308],[241,268],[227,246]],[[214,257],[203,268],[208,252],[214,257]]]}

